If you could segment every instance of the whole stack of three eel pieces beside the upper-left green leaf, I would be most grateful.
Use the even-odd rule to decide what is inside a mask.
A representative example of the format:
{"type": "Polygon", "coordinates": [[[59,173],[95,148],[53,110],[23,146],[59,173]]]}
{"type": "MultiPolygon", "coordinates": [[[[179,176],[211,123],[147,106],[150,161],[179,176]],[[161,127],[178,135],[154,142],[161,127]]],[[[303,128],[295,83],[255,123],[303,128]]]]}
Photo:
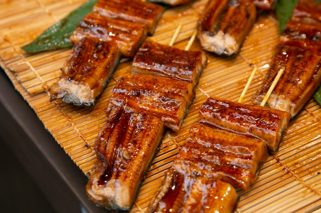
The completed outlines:
{"type": "Polygon", "coordinates": [[[50,101],[93,106],[122,57],[133,58],[164,8],[140,0],[98,0],[70,37],[74,44],[50,101]]]}

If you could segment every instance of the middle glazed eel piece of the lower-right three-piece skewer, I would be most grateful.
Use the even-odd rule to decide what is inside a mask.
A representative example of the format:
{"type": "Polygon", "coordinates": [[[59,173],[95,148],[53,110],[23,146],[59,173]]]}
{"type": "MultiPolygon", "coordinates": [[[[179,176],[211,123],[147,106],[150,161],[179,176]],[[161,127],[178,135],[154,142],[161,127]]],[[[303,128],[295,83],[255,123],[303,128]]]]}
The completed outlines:
{"type": "Polygon", "coordinates": [[[256,181],[267,155],[264,140],[194,124],[172,168],[186,176],[221,179],[245,190],[256,181]]]}

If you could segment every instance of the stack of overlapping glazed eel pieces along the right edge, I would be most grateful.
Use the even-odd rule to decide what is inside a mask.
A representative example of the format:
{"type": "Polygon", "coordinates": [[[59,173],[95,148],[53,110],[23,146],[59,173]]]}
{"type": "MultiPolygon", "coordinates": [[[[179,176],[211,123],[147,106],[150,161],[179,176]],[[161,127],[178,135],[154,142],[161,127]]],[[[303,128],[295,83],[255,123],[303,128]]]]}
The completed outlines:
{"type": "Polygon", "coordinates": [[[292,117],[310,100],[321,82],[321,4],[299,0],[291,19],[276,46],[276,55],[262,88],[254,94],[253,103],[260,103],[274,81],[278,80],[266,106],[291,113],[292,117]]]}

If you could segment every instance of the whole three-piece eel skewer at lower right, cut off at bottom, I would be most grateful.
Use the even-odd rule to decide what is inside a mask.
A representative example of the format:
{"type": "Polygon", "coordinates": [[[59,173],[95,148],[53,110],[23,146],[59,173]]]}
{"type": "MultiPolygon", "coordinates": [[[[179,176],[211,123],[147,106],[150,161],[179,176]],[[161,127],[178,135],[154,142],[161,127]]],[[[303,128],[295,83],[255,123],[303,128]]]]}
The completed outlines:
{"type": "Polygon", "coordinates": [[[256,181],[289,120],[285,111],[208,98],[148,212],[234,212],[235,188],[256,181]]]}

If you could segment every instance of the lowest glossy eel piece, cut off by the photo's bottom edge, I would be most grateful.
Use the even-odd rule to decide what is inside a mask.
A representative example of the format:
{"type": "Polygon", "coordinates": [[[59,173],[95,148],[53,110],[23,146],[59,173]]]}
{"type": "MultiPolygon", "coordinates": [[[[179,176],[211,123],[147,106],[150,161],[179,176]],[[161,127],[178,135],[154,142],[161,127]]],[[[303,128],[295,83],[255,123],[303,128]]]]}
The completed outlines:
{"type": "Polygon", "coordinates": [[[200,176],[187,177],[169,169],[147,212],[231,213],[237,199],[229,183],[200,176]]]}

